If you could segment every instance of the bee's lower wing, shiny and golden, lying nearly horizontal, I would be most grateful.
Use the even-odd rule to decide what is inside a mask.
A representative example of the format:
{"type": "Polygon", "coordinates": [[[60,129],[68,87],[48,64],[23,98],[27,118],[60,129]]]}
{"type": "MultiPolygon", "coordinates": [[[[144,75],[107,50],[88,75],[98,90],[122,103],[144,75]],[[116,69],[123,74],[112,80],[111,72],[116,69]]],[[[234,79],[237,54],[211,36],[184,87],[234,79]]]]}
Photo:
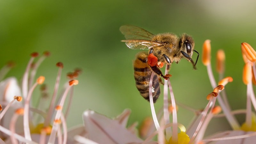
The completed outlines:
{"type": "Polygon", "coordinates": [[[122,40],[122,42],[125,42],[125,44],[130,49],[134,49],[134,50],[138,50],[138,49],[148,50],[155,46],[163,45],[161,43],[157,43],[149,40],[122,40]]]}

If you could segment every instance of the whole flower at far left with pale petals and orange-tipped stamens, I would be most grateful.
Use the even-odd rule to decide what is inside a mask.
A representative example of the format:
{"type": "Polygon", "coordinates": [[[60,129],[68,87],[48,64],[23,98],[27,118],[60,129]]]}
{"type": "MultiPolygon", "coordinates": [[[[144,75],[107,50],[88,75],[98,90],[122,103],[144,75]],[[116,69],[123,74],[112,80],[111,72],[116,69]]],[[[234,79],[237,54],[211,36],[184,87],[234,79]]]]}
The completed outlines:
{"type": "MultiPolygon", "coordinates": [[[[68,74],[69,80],[65,84],[63,92],[61,92],[59,96],[60,100],[56,106],[55,103],[60,84],[61,70],[63,68],[63,64],[58,62],[56,66],[59,68],[59,71],[54,86],[54,92],[52,94],[51,104],[46,108],[41,107],[42,103],[45,102],[44,99],[48,97],[46,85],[43,85],[41,87],[42,98],[38,108],[33,108],[31,106],[31,97],[33,96],[35,88],[38,85],[43,84],[45,79],[44,76],[39,76],[34,83],[37,68],[49,55],[49,52],[44,52],[43,56],[34,62],[38,53],[34,52],[31,54],[31,59],[29,60],[23,75],[21,89],[14,77],[6,78],[0,83],[0,92],[2,92],[1,96],[3,96],[1,98],[3,110],[0,114],[1,141],[16,144],[18,141],[26,143],[45,143],[47,140],[49,143],[54,143],[56,141],[56,133],[58,133],[57,138],[59,142],[68,142],[67,125],[65,120],[68,110],[64,115],[62,108],[67,96],[72,98],[73,90],[70,90],[73,89],[73,85],[78,84],[78,81],[74,78],[79,75],[81,72],[80,69],[76,69],[73,73],[68,74]],[[22,98],[23,101],[21,101],[22,98]],[[17,101],[15,102],[15,100],[17,101]],[[54,109],[55,113],[53,113],[54,109]],[[23,116],[23,119],[20,119],[20,116],[23,116]],[[52,119],[54,120],[52,121],[52,119]],[[60,132],[60,126],[62,127],[62,134],[60,132]]],[[[7,67],[4,67],[4,70],[6,68],[7,67]]],[[[5,72],[0,71],[0,74],[5,73],[6,70],[5,72]]],[[[0,75],[0,77],[4,76],[0,75]]],[[[44,103],[44,105],[46,104],[44,103]]]]}

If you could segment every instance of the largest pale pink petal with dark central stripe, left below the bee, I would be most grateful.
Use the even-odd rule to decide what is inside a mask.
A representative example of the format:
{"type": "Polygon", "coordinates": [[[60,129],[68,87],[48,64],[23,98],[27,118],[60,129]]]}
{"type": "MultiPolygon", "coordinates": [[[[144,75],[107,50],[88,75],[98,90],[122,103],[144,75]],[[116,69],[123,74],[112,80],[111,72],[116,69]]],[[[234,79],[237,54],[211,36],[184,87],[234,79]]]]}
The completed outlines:
{"type": "Polygon", "coordinates": [[[83,114],[85,131],[88,138],[97,143],[142,143],[132,132],[118,123],[92,110],[86,110],[83,114]]]}

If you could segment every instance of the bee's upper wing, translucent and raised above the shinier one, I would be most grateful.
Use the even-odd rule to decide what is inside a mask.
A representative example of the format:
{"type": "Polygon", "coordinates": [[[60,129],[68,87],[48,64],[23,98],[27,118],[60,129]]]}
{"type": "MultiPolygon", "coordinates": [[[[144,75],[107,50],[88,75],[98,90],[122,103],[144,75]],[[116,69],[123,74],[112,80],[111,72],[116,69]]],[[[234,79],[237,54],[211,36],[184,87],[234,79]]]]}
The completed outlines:
{"type": "Polygon", "coordinates": [[[122,34],[124,34],[124,37],[126,39],[143,39],[143,40],[151,40],[151,37],[154,36],[150,32],[146,31],[145,29],[131,26],[131,25],[125,25],[121,26],[119,28],[122,34]]]}

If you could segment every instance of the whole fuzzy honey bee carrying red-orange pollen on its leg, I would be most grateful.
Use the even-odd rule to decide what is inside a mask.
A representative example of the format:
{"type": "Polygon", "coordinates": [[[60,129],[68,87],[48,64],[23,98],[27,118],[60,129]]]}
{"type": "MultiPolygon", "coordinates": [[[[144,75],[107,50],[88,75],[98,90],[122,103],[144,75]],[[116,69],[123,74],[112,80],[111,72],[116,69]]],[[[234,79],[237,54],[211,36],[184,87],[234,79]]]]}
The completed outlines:
{"type": "Polygon", "coordinates": [[[136,87],[140,95],[146,100],[149,101],[149,80],[153,72],[152,92],[154,103],[160,95],[159,82],[162,83],[160,76],[164,79],[171,76],[169,74],[163,75],[159,69],[164,64],[167,64],[169,69],[173,62],[178,63],[182,57],[185,57],[196,69],[199,53],[194,50],[195,42],[191,36],[185,33],[180,37],[173,33],[153,35],[142,28],[131,25],[121,26],[120,31],[126,38],[122,42],[125,42],[130,49],[149,50],[148,53],[138,53],[133,64],[136,87]],[[197,53],[196,62],[191,58],[193,51],[197,53]]]}

